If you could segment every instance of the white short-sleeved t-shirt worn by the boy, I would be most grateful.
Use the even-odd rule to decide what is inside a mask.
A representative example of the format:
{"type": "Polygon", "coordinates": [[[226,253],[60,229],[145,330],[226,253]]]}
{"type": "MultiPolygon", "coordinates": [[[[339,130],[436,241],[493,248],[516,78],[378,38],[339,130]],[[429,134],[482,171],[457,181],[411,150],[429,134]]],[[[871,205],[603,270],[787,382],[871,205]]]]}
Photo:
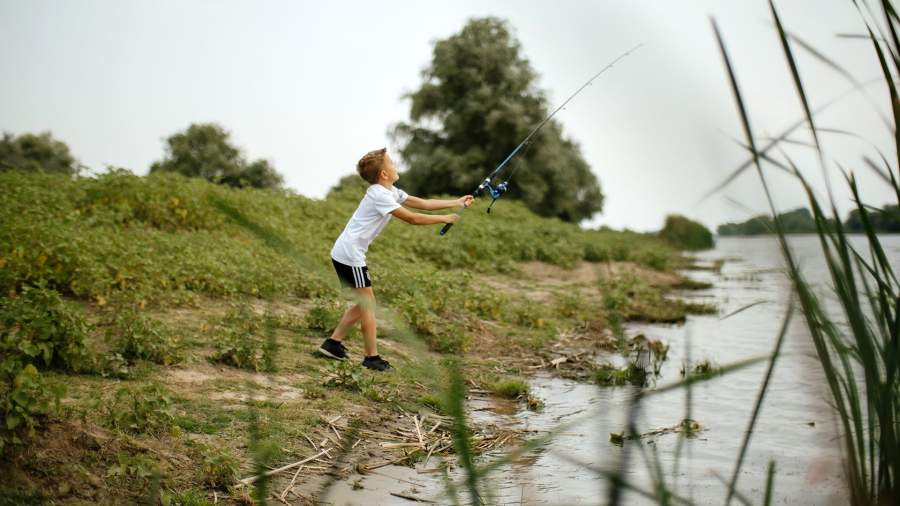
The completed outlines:
{"type": "Polygon", "coordinates": [[[391,211],[400,207],[406,197],[406,192],[399,188],[370,186],[344,231],[334,241],[331,258],[344,265],[364,267],[369,244],[391,220],[391,211]]]}

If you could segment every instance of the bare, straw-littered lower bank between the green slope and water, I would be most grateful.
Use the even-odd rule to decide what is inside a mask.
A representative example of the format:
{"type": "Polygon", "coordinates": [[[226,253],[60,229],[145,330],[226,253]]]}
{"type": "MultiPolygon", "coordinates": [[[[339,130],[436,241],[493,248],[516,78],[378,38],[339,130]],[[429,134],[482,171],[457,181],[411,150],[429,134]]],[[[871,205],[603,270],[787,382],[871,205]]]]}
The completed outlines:
{"type": "MultiPolygon", "coordinates": [[[[653,297],[680,283],[675,274],[628,262],[581,263],[574,269],[538,262],[519,267],[513,275],[490,278],[489,284],[541,304],[562,297],[556,303],[567,310],[546,322],[528,315],[518,323],[476,322],[482,331],[475,333],[464,363],[470,393],[530,402],[533,409],[543,402],[528,386],[535,373],[589,379],[595,355],[615,348],[612,315],[602,309],[604,283],[637,280],[653,288],[642,292],[653,297]]],[[[646,301],[633,302],[651,307],[646,301]]],[[[96,303],[85,309],[95,325],[108,321],[114,311],[96,303]]],[[[152,492],[158,473],[159,490],[166,496],[240,502],[246,487],[235,485],[255,474],[255,459],[279,467],[316,456],[296,475],[299,491],[309,480],[322,481],[333,473],[341,479],[387,463],[412,464],[426,458],[426,448],[434,463],[449,456],[452,424],[441,398],[446,356],[384,321],[379,345],[396,371],[376,374],[320,358],[314,350],[324,333],[306,327],[316,317],[314,311],[306,301],[259,299],[244,305],[202,299],[190,306],[148,310],[146,321],[165,329],[160,330],[164,337],[174,332],[185,343],[183,357],[172,365],[139,362],[120,378],[48,374],[51,381],[67,385],[62,412],[27,450],[5,463],[4,474],[11,478],[6,492],[64,503],[139,500],[152,492]],[[266,319],[277,324],[275,372],[213,360],[217,341],[229,332],[222,322],[234,321],[235,311],[244,323],[257,318],[260,325],[266,319]],[[117,420],[113,425],[111,418],[117,420]],[[254,449],[253,423],[266,455],[254,449]],[[427,435],[422,445],[416,444],[417,431],[427,435]],[[434,443],[440,444],[435,448],[434,443]]],[[[615,317],[641,318],[635,311],[629,308],[628,316],[615,317]]],[[[348,344],[358,359],[358,336],[348,344]]],[[[489,425],[472,429],[483,449],[511,447],[528,437],[489,425]]],[[[296,471],[274,475],[270,490],[280,496],[296,471]]]]}

